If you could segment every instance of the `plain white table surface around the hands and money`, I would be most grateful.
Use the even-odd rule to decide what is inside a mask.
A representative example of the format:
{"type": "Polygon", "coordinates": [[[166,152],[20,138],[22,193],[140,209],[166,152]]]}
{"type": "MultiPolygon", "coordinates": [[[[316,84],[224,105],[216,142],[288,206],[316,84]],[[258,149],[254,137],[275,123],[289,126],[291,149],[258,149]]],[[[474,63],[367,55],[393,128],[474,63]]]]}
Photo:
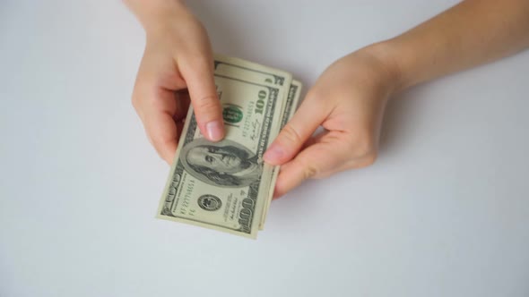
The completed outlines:
{"type": "MultiPolygon", "coordinates": [[[[310,86],[455,4],[193,1],[214,50],[310,86]]],[[[119,1],[0,2],[0,296],[528,296],[529,52],[411,89],[367,169],[273,202],[256,241],[154,218],[119,1]]]]}

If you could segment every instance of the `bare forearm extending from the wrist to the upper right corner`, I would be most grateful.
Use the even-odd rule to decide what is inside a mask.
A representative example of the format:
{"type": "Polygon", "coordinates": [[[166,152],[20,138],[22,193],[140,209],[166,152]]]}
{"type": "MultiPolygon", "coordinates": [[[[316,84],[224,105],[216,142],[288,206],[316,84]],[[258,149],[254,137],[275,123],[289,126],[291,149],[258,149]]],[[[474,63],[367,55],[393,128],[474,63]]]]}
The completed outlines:
{"type": "Polygon", "coordinates": [[[529,1],[467,0],[380,47],[406,89],[529,47],[529,1]]]}

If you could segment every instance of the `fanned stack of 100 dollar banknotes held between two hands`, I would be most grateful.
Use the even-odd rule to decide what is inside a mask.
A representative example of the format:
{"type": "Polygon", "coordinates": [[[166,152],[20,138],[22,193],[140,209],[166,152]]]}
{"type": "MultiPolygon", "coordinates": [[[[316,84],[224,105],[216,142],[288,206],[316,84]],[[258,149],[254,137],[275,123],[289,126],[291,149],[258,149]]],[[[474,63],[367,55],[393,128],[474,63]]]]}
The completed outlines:
{"type": "Polygon", "coordinates": [[[264,151],[294,114],[301,84],[291,73],[215,56],[225,138],[204,139],[190,107],[157,217],[256,238],[279,173],[264,151]]]}

